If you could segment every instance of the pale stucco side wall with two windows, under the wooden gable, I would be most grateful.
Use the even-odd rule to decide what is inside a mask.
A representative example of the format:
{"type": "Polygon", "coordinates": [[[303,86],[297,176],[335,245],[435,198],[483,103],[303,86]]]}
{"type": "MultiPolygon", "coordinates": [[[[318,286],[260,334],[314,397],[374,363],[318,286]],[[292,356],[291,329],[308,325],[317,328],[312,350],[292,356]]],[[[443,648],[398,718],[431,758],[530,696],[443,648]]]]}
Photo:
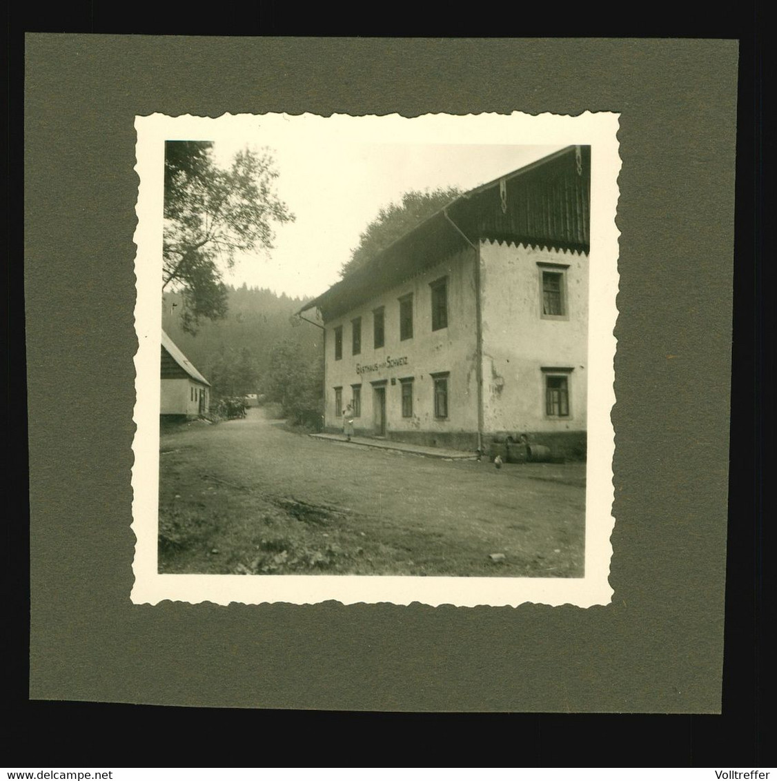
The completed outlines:
{"type": "Polygon", "coordinates": [[[585,431],[587,255],[483,241],[480,275],[484,431],[585,431]],[[565,266],[565,317],[543,316],[538,263],[565,266]],[[543,367],[572,369],[566,417],[546,415],[543,367]]]}

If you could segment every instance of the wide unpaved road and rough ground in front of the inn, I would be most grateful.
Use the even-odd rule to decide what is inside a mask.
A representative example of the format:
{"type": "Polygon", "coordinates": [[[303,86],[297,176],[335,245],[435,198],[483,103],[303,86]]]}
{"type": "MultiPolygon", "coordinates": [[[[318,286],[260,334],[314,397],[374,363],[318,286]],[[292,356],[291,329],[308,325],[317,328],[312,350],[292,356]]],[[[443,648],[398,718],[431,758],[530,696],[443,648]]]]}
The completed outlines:
{"type": "Polygon", "coordinates": [[[584,464],[497,471],[317,440],[259,409],[160,450],[162,572],[583,575],[584,464]]]}

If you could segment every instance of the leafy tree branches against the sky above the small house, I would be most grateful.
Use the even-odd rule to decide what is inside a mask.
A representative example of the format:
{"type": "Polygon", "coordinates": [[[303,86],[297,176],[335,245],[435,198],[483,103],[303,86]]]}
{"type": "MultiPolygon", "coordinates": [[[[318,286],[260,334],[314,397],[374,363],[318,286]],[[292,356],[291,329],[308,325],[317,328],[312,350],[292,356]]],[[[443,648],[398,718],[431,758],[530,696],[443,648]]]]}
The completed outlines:
{"type": "Polygon", "coordinates": [[[226,315],[223,267],[238,252],[272,249],[273,226],[294,220],[274,190],[274,166],[268,152],[245,149],[223,169],[209,141],[166,141],[162,290],[183,294],[187,333],[226,315]]]}

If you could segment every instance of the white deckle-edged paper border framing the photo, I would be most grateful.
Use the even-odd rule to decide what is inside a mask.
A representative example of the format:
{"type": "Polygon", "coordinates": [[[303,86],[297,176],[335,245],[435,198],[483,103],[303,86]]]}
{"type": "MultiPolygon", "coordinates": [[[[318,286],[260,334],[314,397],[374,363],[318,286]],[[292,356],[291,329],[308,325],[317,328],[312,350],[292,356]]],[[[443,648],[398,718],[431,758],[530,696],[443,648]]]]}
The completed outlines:
{"type": "MultiPolygon", "coordinates": [[[[427,114],[407,118],[387,116],[329,117],[280,115],[294,123],[337,125],[344,138],[358,141],[412,141],[431,144],[581,144],[591,147],[591,213],[588,436],[586,462],[585,575],[582,578],[414,577],[351,575],[193,575],[160,574],[157,564],[159,519],[159,351],[162,312],[162,201],[165,141],[175,138],[214,141],[237,127],[246,115],[220,117],[137,116],[137,198],[135,275],[136,370],[132,469],[132,530],[136,537],[133,562],[134,604],[181,601],[227,605],[392,603],[434,607],[513,606],[534,603],[572,604],[580,608],[610,604],[611,533],[614,485],[612,460],[615,432],[615,323],[618,317],[618,120],[614,112],[584,112],[579,116],[427,114]]],[[[250,115],[261,119],[262,115],[250,115]]],[[[266,115],[267,116],[267,115],[266,115]]],[[[273,115],[277,116],[277,115],[273,115]]]]}

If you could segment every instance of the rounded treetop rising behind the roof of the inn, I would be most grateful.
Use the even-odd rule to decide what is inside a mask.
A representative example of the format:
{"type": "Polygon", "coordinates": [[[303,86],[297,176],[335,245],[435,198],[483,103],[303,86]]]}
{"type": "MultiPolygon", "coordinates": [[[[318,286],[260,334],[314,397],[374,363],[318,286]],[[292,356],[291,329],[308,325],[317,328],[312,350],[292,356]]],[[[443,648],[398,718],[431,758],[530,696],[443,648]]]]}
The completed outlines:
{"type": "Polygon", "coordinates": [[[366,262],[418,226],[425,219],[439,212],[462,192],[457,187],[438,187],[437,190],[410,190],[400,203],[383,206],[378,216],[359,237],[358,247],[351,251],[351,259],[340,269],[345,277],[360,269],[366,262]]]}

